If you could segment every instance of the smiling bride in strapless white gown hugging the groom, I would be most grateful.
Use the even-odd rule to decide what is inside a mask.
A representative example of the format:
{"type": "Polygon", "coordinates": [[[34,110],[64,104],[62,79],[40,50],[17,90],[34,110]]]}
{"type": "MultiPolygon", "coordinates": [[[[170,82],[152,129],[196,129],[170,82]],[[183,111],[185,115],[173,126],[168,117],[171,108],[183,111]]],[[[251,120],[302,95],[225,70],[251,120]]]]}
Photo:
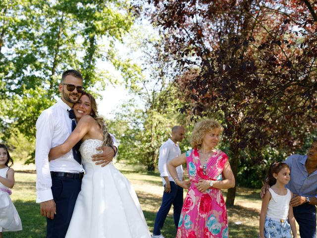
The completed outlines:
{"type": "MultiPolygon", "coordinates": [[[[51,149],[50,160],[65,154],[81,141],[80,153],[86,174],[77,197],[66,238],[150,238],[138,197],[110,162],[105,167],[91,159],[96,148],[112,145],[104,120],[97,115],[91,94],[83,93],[74,105],[77,126],[67,140],[51,149]]],[[[101,151],[100,151],[101,152],[101,151]]]]}

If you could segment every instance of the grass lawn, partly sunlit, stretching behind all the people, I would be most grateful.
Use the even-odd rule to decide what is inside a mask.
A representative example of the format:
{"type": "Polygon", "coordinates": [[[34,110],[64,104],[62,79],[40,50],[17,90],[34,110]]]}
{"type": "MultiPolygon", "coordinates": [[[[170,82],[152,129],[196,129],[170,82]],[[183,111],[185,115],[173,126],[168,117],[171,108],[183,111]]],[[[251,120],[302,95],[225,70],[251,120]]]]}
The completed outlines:
{"type": "MultiPolygon", "coordinates": [[[[133,184],[152,233],[163,191],[159,175],[154,173],[136,173],[126,166],[120,166],[120,164],[117,164],[116,167],[122,168],[121,172],[133,184]]],[[[21,217],[23,231],[3,233],[4,238],[45,238],[46,219],[40,215],[39,204],[35,203],[35,171],[19,169],[19,167],[14,169],[16,183],[13,187],[11,199],[21,217]]],[[[225,196],[226,191],[223,194],[225,196]]],[[[257,238],[259,235],[260,209],[259,190],[238,187],[235,206],[228,207],[230,237],[257,238]]],[[[172,209],[161,232],[165,238],[175,238],[176,236],[172,209]]]]}

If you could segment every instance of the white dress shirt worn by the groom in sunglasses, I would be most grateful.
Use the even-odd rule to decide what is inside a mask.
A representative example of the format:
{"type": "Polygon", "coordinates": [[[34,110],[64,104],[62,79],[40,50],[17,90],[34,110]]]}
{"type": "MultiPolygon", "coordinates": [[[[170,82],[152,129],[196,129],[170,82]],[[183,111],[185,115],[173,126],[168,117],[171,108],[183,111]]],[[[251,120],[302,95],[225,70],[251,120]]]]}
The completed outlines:
{"type": "MultiPolygon", "coordinates": [[[[75,161],[71,149],[63,156],[49,162],[51,148],[64,143],[71,134],[71,119],[67,110],[71,108],[61,99],[52,107],[44,110],[36,121],[36,202],[45,202],[53,199],[51,171],[81,173],[82,165],[75,161]]],[[[117,143],[113,138],[113,145],[117,143]]]]}

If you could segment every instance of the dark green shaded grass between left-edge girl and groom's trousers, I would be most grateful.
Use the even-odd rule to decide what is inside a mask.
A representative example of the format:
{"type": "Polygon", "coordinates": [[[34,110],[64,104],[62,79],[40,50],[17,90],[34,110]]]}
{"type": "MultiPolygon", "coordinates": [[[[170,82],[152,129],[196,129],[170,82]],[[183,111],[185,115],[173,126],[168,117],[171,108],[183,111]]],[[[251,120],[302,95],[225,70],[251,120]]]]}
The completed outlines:
{"type": "Polygon", "coordinates": [[[40,214],[40,205],[35,201],[23,202],[16,200],[14,206],[22,221],[23,230],[5,232],[4,238],[45,238],[46,219],[40,214]]]}

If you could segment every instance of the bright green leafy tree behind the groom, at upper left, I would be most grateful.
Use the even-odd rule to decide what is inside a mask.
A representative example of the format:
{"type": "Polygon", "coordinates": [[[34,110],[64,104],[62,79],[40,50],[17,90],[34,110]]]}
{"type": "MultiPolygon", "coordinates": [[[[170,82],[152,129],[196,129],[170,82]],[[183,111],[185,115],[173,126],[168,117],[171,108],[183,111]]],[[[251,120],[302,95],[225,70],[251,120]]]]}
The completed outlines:
{"type": "Polygon", "coordinates": [[[4,0],[0,13],[0,129],[30,140],[64,70],[81,71],[86,88],[104,89],[106,71],[96,66],[108,54],[103,42],[120,41],[134,21],[125,0],[4,0]]]}

